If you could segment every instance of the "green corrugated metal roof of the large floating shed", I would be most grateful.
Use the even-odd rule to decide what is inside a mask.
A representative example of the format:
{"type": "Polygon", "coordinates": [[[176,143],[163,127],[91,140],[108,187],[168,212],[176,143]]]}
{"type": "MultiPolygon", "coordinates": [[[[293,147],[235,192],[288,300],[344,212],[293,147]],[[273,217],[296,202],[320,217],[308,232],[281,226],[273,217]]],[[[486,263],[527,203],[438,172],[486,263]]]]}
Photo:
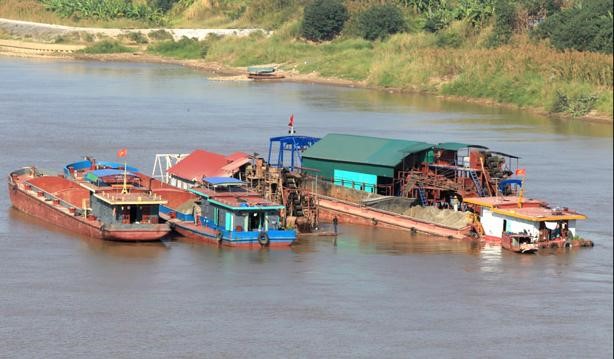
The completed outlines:
{"type": "Polygon", "coordinates": [[[331,133],[303,153],[303,158],[394,167],[412,153],[432,148],[426,142],[331,133]]]}

